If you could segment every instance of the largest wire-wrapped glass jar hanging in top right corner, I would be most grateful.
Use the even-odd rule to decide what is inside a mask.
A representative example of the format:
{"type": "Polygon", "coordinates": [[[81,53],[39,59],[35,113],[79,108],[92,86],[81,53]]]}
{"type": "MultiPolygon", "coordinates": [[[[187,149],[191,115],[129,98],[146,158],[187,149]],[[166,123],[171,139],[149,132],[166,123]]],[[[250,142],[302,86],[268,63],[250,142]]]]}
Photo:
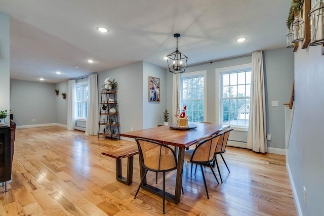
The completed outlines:
{"type": "Polygon", "coordinates": [[[309,46],[324,44],[324,1],[314,0],[308,16],[310,17],[309,46]]]}

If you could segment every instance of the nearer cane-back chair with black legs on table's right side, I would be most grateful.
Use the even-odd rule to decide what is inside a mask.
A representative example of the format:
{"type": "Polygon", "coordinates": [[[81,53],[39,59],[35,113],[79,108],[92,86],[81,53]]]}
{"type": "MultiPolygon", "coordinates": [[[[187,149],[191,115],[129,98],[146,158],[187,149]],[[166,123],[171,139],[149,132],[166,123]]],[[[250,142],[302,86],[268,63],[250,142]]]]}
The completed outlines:
{"type": "MultiPolygon", "coordinates": [[[[215,175],[214,169],[211,165],[211,162],[215,160],[215,150],[216,146],[218,143],[219,138],[223,134],[218,134],[213,137],[207,138],[203,141],[200,141],[198,146],[195,149],[189,149],[185,151],[184,153],[184,160],[189,161],[191,163],[196,163],[196,166],[199,164],[201,168],[201,173],[203,174],[203,179],[204,179],[204,184],[205,184],[205,189],[207,193],[207,198],[209,199],[208,195],[208,189],[207,189],[207,184],[206,184],[206,179],[205,179],[205,174],[204,174],[204,169],[203,169],[203,164],[209,165],[211,168],[213,175],[218,182],[218,179],[215,175]]],[[[191,172],[192,172],[192,166],[191,166],[191,172]]]]}

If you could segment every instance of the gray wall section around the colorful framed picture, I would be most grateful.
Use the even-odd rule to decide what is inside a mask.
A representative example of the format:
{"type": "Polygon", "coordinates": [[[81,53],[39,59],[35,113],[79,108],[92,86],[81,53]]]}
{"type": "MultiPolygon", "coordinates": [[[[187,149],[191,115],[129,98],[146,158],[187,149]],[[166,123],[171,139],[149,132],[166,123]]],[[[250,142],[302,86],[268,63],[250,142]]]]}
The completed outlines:
{"type": "Polygon", "coordinates": [[[142,92],[143,128],[151,128],[156,127],[158,124],[163,124],[163,112],[167,108],[167,70],[144,62],[142,92]],[[148,102],[148,76],[160,78],[160,102],[148,102]]]}

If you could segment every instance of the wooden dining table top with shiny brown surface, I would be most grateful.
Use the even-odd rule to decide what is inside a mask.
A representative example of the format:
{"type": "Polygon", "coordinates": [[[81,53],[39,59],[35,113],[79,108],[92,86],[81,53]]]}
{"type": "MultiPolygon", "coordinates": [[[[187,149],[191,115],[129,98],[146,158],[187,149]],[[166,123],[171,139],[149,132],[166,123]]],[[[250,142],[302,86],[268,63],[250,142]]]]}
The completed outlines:
{"type": "Polygon", "coordinates": [[[163,143],[165,145],[172,145],[186,148],[194,144],[201,137],[212,136],[220,131],[228,128],[229,125],[196,123],[197,128],[190,130],[171,129],[169,126],[159,126],[139,131],[132,131],[119,134],[121,137],[129,138],[144,138],[163,143]]]}

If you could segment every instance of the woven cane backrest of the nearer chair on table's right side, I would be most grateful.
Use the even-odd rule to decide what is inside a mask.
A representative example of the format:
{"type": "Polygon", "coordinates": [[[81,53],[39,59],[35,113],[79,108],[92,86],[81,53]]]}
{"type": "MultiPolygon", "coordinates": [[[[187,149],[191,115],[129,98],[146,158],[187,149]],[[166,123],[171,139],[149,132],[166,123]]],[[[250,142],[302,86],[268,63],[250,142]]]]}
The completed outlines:
{"type": "Polygon", "coordinates": [[[214,154],[219,138],[223,134],[217,134],[206,140],[203,140],[194,149],[190,162],[208,163],[214,160],[214,154]]]}

